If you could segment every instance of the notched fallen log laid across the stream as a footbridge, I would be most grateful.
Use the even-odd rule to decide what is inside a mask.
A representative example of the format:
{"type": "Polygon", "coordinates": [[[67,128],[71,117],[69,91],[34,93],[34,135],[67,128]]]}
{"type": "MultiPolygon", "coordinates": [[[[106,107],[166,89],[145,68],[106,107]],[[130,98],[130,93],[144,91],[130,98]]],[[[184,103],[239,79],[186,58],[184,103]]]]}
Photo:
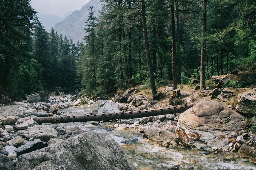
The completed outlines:
{"type": "Polygon", "coordinates": [[[33,120],[38,124],[42,123],[67,123],[67,122],[88,122],[88,121],[101,121],[101,120],[114,120],[114,119],[132,119],[149,116],[158,116],[164,114],[181,113],[194,106],[194,103],[188,105],[181,105],[169,108],[148,109],[138,111],[120,111],[118,113],[107,114],[86,114],[86,115],[67,115],[56,117],[35,117],[33,120]]]}

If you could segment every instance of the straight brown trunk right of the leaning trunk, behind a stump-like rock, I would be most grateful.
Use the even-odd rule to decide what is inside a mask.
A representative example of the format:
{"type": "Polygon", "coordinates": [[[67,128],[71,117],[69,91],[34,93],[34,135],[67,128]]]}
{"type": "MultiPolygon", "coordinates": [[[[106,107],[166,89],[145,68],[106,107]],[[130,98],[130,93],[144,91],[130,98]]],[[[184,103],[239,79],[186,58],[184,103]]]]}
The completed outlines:
{"type": "Polygon", "coordinates": [[[175,19],[174,5],[171,5],[171,46],[172,46],[172,81],[173,90],[177,89],[177,71],[176,71],[176,42],[175,42],[175,19]]]}

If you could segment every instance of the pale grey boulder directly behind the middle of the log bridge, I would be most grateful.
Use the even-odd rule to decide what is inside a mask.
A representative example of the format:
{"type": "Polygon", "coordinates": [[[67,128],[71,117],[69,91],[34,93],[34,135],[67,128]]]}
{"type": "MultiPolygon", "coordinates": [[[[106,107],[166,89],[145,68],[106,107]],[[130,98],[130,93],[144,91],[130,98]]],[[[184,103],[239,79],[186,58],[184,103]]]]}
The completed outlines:
{"type": "Polygon", "coordinates": [[[105,114],[119,112],[119,106],[116,103],[109,102],[106,100],[98,100],[92,106],[93,114],[105,114]]]}

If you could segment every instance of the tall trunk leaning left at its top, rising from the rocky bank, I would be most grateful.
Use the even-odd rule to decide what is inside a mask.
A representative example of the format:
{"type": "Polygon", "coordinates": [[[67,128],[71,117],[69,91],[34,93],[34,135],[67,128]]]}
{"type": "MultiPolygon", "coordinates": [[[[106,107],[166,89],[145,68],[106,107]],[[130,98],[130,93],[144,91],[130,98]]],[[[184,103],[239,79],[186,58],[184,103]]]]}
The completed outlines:
{"type": "Polygon", "coordinates": [[[144,0],[141,0],[141,9],[142,9],[143,36],[144,36],[144,43],[145,43],[145,52],[146,52],[146,58],[147,58],[149,80],[150,80],[153,100],[155,100],[155,95],[157,94],[157,89],[156,89],[156,85],[155,85],[154,74],[153,74],[153,70],[152,70],[151,58],[150,58],[150,53],[149,53],[149,43],[148,43],[148,33],[147,33],[145,1],[144,0]]]}

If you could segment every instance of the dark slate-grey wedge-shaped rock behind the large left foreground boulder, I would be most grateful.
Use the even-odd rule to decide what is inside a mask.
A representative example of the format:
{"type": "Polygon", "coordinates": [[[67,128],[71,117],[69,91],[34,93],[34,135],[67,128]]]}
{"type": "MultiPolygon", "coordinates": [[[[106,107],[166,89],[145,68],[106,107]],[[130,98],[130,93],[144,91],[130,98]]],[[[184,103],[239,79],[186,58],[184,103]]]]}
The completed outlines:
{"type": "Polygon", "coordinates": [[[27,142],[25,145],[22,145],[21,147],[19,147],[16,152],[17,152],[17,156],[20,156],[22,154],[26,154],[32,151],[35,151],[37,149],[41,149],[44,147],[47,147],[48,143],[46,142],[40,142],[40,141],[32,141],[32,142],[27,142]]]}

